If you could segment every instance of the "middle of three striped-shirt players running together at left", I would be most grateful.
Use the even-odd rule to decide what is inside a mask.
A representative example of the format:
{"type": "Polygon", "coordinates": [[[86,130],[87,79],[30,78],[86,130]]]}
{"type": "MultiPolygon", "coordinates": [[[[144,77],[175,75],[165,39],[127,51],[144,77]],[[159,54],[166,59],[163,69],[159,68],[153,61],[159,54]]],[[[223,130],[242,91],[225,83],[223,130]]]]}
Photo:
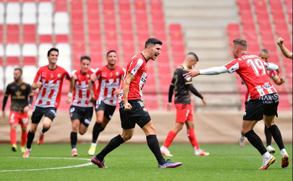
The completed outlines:
{"type": "Polygon", "coordinates": [[[74,79],[73,102],[69,109],[72,123],[70,133],[71,140],[71,156],[77,156],[76,142],[77,131],[83,135],[86,133],[88,125],[91,123],[93,116],[93,103],[90,102],[91,94],[88,89],[90,75],[94,69],[90,69],[91,57],[82,56],[80,58],[80,69],[72,71],[72,79],[74,79]]]}

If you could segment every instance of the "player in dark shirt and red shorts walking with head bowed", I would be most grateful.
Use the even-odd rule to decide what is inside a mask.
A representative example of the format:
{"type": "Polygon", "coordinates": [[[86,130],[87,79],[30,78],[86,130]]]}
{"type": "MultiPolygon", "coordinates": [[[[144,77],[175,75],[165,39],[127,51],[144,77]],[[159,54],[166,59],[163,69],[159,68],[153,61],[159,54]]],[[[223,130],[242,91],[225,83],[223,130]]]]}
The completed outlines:
{"type": "Polygon", "coordinates": [[[195,53],[190,52],[185,57],[182,65],[178,66],[174,72],[174,76],[169,89],[169,101],[167,103],[167,111],[171,111],[172,106],[172,96],[175,91],[175,106],[176,106],[176,123],[175,126],[169,131],[167,138],[161,147],[161,152],[165,156],[173,156],[170,154],[168,147],[171,145],[176,134],[183,128],[184,124],[187,127],[187,136],[190,140],[191,145],[194,149],[194,155],[204,155],[207,156],[209,153],[200,149],[194,133],[193,124],[193,109],[191,107],[191,92],[202,99],[204,106],[207,104],[205,98],[202,97],[200,93],[193,87],[192,82],[184,79],[183,74],[187,73],[183,69],[191,69],[198,61],[198,57],[195,53]]]}

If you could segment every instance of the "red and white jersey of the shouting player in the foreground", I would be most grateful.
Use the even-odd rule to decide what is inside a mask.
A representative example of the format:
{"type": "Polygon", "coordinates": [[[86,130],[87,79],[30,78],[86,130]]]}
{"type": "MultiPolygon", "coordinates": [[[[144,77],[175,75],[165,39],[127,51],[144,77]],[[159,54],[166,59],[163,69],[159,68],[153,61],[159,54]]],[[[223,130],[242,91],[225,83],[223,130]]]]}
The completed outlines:
{"type": "MultiPolygon", "coordinates": [[[[134,57],[132,57],[131,60],[128,62],[124,79],[128,72],[132,73],[135,76],[135,79],[129,84],[129,92],[127,99],[140,99],[143,101],[142,88],[144,87],[144,84],[147,82],[147,60],[144,57],[144,55],[142,55],[142,53],[134,55],[134,57]]],[[[122,83],[119,94],[119,103],[123,100],[124,96],[122,83]]]]}

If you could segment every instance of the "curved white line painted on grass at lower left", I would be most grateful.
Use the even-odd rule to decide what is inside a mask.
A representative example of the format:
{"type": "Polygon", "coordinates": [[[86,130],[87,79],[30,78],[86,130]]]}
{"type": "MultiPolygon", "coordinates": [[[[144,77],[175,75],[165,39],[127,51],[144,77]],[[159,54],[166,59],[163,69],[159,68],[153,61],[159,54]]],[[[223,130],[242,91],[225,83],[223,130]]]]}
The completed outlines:
{"type": "MultiPolygon", "coordinates": [[[[1,157],[1,158],[21,158],[21,157],[1,157]]],[[[59,157],[29,157],[34,159],[64,159],[64,160],[91,160],[87,158],[59,158],[59,157]]],[[[27,158],[25,158],[27,159],[27,158]]],[[[55,170],[55,169],[63,169],[63,168],[78,168],[78,167],[84,167],[91,165],[92,163],[85,163],[81,165],[73,165],[73,166],[67,166],[67,167],[56,167],[56,168],[40,168],[40,169],[27,169],[27,170],[0,170],[0,172],[15,172],[15,171],[33,171],[33,170],[55,170]]]]}

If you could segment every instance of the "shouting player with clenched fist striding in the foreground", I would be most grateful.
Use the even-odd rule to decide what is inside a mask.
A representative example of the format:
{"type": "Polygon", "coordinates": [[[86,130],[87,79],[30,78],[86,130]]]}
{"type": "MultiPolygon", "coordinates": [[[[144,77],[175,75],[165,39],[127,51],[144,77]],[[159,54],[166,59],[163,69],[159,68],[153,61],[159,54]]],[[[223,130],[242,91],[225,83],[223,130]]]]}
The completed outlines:
{"type": "Polygon", "coordinates": [[[156,60],[156,57],[161,54],[162,44],[158,39],[149,38],[145,43],[145,49],[134,55],[128,62],[119,94],[122,133],[112,138],[108,145],[92,158],[91,162],[98,167],[107,168],[103,159],[108,153],[132,137],[135,124],[138,124],[146,134],[147,144],[158,160],[158,168],[174,168],[182,165],[181,162],[174,163],[163,158],[156,137],[156,129],[142,103],[142,88],[147,79],[147,62],[156,60]]]}

